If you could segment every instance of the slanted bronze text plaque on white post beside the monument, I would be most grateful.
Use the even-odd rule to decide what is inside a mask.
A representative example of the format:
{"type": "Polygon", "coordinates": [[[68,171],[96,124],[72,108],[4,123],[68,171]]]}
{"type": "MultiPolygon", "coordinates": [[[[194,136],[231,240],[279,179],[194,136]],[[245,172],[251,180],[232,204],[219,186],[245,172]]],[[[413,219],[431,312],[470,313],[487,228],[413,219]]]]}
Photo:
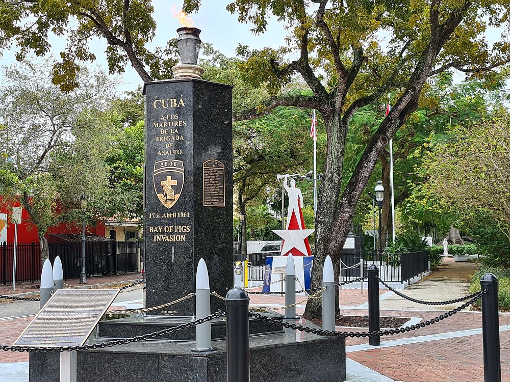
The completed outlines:
{"type": "Polygon", "coordinates": [[[59,289],[13,346],[81,346],[118,289],[59,289]]]}

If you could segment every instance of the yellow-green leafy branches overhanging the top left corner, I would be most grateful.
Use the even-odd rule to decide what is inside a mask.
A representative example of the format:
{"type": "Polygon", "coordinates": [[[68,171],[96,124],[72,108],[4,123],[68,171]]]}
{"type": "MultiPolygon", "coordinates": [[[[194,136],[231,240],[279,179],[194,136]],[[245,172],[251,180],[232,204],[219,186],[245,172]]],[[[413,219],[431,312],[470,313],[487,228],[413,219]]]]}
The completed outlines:
{"type": "Polygon", "coordinates": [[[61,90],[80,85],[80,62],[92,62],[94,38],[105,39],[110,73],[122,73],[131,63],[143,81],[168,78],[176,64],[176,39],[164,47],[149,49],[156,34],[154,7],[148,0],[77,0],[44,2],[33,0],[0,1],[0,49],[16,48],[21,61],[28,53],[43,56],[51,51],[48,35],[67,40],[61,61],[53,65],[52,80],[61,90]]]}

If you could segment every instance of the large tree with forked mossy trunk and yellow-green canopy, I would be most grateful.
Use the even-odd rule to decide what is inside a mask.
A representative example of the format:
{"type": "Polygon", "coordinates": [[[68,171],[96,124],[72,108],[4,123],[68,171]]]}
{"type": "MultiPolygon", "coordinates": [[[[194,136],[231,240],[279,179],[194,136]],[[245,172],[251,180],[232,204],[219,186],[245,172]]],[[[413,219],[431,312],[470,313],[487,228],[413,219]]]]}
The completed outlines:
{"type": "MultiPolygon", "coordinates": [[[[199,0],[185,1],[186,11],[199,9],[199,0]]],[[[497,78],[508,60],[504,36],[490,46],[484,33],[504,27],[510,4],[495,0],[337,1],[236,0],[227,10],[239,21],[251,22],[254,33],[266,30],[274,16],[289,31],[286,45],[250,50],[240,45],[245,61],[243,79],[267,84],[274,96],[236,119],[257,118],[286,105],[313,107],[322,114],[327,152],[316,224],[316,261],[312,287],[320,286],[326,255],[338,262],[356,203],[369,181],[382,150],[408,115],[424,88],[444,71],[470,77],[497,78]],[[298,58],[288,60],[288,53],[298,58]],[[299,74],[313,94],[277,95],[299,74]],[[397,94],[393,109],[371,134],[349,180],[343,166],[349,122],[356,111],[397,94]]],[[[338,267],[337,267],[338,269],[338,267]]],[[[318,315],[320,302],[309,301],[305,315],[318,315]]]]}

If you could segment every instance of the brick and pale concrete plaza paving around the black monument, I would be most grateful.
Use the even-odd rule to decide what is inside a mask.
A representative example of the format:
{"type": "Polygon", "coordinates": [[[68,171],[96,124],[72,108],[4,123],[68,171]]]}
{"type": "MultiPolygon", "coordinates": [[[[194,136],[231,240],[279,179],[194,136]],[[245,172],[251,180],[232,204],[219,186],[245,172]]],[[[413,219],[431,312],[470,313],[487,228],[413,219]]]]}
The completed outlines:
{"type": "MultiPolygon", "coordinates": [[[[473,266],[473,265],[471,265],[473,266]]],[[[444,269],[455,268],[447,262],[444,269]]],[[[456,298],[467,294],[462,279],[440,276],[444,269],[402,292],[429,301],[456,298]]],[[[448,276],[448,274],[446,274],[448,276]]],[[[259,289],[255,289],[259,290],[259,289]]],[[[299,298],[299,297],[298,297],[299,298]]],[[[380,290],[381,316],[405,317],[410,325],[443,314],[451,307],[430,307],[409,303],[387,289],[380,290]]],[[[298,299],[299,301],[299,299],[298,299]]],[[[285,305],[280,296],[252,295],[252,306],[278,309],[285,305]]],[[[121,293],[114,309],[142,306],[142,290],[121,293]]],[[[342,289],[341,312],[344,315],[368,315],[367,291],[342,289]]],[[[32,302],[0,304],[2,344],[12,343],[33,318],[38,305],[32,302]]],[[[302,313],[304,304],[297,307],[302,313]]],[[[364,331],[365,329],[337,328],[364,331]]],[[[502,378],[510,380],[510,314],[500,314],[502,378]]],[[[346,341],[349,382],[479,382],[483,380],[481,313],[462,311],[416,331],[381,338],[381,346],[368,345],[368,339],[348,338],[346,341]]],[[[28,356],[24,353],[0,353],[0,380],[26,382],[28,356]],[[8,379],[10,378],[10,379],[8,379]]]]}

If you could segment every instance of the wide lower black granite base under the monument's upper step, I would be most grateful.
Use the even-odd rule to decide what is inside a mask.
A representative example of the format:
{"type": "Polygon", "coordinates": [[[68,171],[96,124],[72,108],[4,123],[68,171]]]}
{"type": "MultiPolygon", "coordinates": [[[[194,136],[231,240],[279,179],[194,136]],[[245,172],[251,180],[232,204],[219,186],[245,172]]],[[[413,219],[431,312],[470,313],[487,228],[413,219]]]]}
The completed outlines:
{"type": "MultiPolygon", "coordinates": [[[[87,343],[94,342],[99,341],[87,343]]],[[[193,346],[141,341],[78,352],[77,382],[225,382],[226,341],[213,341],[214,353],[194,353],[193,346]]],[[[30,382],[58,382],[58,372],[58,353],[30,353],[30,382]]],[[[345,339],[289,329],[250,336],[250,377],[251,382],[344,381],[345,339]]]]}

